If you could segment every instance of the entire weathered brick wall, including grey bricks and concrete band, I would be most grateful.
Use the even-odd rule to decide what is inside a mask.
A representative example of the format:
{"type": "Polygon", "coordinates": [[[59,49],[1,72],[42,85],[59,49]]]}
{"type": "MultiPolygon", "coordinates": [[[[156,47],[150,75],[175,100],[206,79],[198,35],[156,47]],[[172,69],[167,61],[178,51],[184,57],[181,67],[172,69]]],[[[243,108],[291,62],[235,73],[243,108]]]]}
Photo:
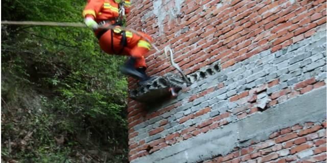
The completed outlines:
{"type": "MultiPolygon", "coordinates": [[[[170,45],[193,85],[151,112],[129,100],[130,161],[325,160],[325,6],[134,2],[129,26],[170,45]]],[[[150,74],[174,72],[162,51],[146,60],[150,74]]]]}

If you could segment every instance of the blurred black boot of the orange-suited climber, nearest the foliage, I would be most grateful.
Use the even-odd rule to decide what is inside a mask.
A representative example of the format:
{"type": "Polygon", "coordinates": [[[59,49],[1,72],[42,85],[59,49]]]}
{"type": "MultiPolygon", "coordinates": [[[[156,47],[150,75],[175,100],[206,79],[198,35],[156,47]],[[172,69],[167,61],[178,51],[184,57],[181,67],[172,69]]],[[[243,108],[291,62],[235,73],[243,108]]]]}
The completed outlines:
{"type": "Polygon", "coordinates": [[[136,68],[134,67],[135,62],[136,59],[130,57],[126,62],[126,64],[123,67],[121,67],[121,72],[125,75],[131,76],[139,80],[146,80],[148,76],[136,70],[136,68]]]}

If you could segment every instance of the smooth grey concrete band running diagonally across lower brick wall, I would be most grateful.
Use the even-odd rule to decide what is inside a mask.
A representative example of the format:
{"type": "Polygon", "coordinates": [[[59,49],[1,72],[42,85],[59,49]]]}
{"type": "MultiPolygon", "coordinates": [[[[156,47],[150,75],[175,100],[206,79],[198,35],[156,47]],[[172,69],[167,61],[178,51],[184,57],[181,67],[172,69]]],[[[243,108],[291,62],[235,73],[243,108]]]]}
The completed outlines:
{"type": "Polygon", "coordinates": [[[247,146],[248,140],[267,140],[269,134],[276,130],[298,123],[322,122],[325,119],[326,87],[323,87],[277,104],[262,113],[134,159],[131,163],[203,161],[226,155],[235,147],[247,146]]]}

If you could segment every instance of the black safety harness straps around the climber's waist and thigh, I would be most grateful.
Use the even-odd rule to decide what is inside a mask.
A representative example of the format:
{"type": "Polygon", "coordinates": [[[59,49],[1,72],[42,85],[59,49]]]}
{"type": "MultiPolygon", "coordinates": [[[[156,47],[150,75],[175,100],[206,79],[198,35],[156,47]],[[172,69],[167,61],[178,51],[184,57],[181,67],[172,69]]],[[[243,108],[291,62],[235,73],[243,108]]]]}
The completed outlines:
{"type": "MultiPolygon", "coordinates": [[[[100,25],[104,25],[106,23],[110,23],[112,21],[115,21],[112,25],[119,25],[119,26],[122,26],[123,25],[123,21],[124,21],[124,16],[125,16],[125,1],[122,0],[118,7],[119,7],[119,16],[118,18],[112,18],[112,19],[108,19],[108,20],[104,20],[104,21],[101,21],[99,24],[100,25]]],[[[103,29],[101,30],[98,34],[97,34],[97,38],[100,39],[101,36],[106,33],[108,31],[108,29],[103,29]]],[[[113,33],[116,33],[114,32],[114,29],[110,29],[110,33],[111,33],[111,49],[112,51],[116,54],[116,55],[120,55],[125,46],[127,46],[127,38],[126,38],[126,31],[124,30],[120,30],[120,32],[118,34],[121,34],[122,35],[122,39],[121,39],[121,42],[120,44],[122,45],[122,48],[120,49],[120,51],[118,53],[116,53],[114,47],[113,47],[113,33]]]]}

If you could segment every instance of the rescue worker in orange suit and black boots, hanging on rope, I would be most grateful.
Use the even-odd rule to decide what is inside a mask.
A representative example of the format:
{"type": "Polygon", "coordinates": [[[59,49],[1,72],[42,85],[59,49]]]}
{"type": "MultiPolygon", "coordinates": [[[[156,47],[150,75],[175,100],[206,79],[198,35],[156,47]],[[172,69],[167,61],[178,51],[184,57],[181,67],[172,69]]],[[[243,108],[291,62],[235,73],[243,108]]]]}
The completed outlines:
{"type": "Polygon", "coordinates": [[[142,32],[139,35],[120,29],[122,14],[130,12],[130,1],[123,0],[88,0],[83,10],[84,22],[93,29],[99,39],[100,47],[108,54],[130,56],[121,68],[123,74],[132,76],[144,82],[150,77],[145,73],[147,65],[144,55],[151,45],[144,38],[152,38],[142,32]],[[113,30],[100,29],[99,26],[115,25],[113,30]]]}

